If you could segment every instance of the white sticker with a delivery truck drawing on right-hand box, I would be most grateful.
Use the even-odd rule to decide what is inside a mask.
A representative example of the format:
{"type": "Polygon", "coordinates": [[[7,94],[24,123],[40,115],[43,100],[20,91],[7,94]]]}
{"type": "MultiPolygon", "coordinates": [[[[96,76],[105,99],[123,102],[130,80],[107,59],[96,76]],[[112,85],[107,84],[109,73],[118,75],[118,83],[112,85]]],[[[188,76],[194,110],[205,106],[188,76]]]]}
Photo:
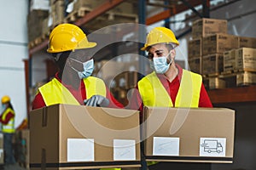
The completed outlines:
{"type": "Polygon", "coordinates": [[[226,156],[226,139],[200,138],[200,156],[226,156]]]}

